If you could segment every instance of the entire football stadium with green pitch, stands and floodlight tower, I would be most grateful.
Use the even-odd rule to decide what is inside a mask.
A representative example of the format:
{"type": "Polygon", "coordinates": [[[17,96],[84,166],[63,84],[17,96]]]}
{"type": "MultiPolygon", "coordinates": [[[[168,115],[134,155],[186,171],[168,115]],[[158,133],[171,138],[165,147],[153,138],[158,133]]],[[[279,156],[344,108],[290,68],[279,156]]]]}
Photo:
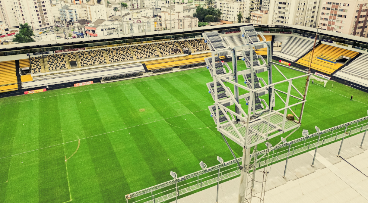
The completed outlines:
{"type": "Polygon", "coordinates": [[[368,202],[367,159],[349,159],[367,154],[367,39],[239,23],[85,40],[0,47],[0,203],[282,202],[323,153],[368,202]]]}

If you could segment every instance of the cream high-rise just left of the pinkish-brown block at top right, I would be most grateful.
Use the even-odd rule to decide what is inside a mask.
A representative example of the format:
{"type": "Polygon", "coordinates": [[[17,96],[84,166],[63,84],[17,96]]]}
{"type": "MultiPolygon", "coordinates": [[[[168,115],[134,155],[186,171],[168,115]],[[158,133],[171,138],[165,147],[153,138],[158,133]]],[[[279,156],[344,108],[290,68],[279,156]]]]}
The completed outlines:
{"type": "Polygon", "coordinates": [[[321,3],[320,0],[270,1],[268,23],[313,27],[321,3]]]}

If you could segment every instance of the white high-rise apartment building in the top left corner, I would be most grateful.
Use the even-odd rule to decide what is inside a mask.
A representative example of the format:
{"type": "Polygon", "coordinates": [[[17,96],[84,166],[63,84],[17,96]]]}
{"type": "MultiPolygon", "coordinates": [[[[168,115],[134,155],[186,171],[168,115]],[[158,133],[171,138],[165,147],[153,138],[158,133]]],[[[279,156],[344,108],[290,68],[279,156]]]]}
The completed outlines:
{"type": "Polygon", "coordinates": [[[0,0],[1,19],[9,27],[28,23],[34,30],[54,26],[49,0],[0,0]]]}

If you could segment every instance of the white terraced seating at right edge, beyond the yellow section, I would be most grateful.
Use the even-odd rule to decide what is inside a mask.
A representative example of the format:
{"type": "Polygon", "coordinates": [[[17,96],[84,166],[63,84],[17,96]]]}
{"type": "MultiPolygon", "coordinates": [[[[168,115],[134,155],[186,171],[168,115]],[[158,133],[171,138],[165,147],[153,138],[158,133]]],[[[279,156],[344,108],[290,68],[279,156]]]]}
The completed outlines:
{"type": "Polygon", "coordinates": [[[343,76],[341,72],[357,76],[358,78],[363,78],[368,80],[368,54],[361,54],[355,60],[351,61],[346,67],[343,67],[340,71],[337,71],[334,75],[339,77],[343,76]]]}

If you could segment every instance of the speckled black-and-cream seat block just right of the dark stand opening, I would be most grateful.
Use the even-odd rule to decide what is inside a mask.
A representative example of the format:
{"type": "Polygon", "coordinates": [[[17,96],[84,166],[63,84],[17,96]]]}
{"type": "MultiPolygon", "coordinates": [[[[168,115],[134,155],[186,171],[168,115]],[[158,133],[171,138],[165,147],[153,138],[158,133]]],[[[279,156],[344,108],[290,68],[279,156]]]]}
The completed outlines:
{"type": "Polygon", "coordinates": [[[81,60],[81,66],[86,67],[90,65],[103,65],[107,63],[103,52],[104,49],[78,51],[79,58],[81,60]]]}

